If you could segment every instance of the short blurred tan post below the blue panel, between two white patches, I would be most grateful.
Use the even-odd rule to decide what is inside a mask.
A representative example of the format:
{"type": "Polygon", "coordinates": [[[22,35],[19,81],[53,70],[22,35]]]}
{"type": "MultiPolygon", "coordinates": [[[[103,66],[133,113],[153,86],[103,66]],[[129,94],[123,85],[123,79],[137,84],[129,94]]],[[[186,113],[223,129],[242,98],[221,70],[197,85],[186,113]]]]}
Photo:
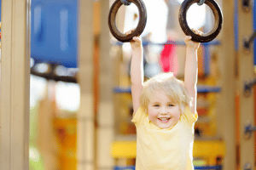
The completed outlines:
{"type": "Polygon", "coordinates": [[[44,98],[38,104],[38,150],[40,151],[44,160],[44,167],[47,169],[60,169],[59,148],[60,144],[55,135],[55,116],[56,102],[55,100],[55,83],[46,82],[46,89],[44,91],[44,98]],[[49,96],[49,92],[50,96],[49,96]],[[52,93],[53,92],[53,93],[52,93]],[[53,97],[54,96],[54,97],[53,97]],[[47,136],[47,138],[45,138],[47,136]],[[57,154],[56,154],[57,153],[57,154]]]}

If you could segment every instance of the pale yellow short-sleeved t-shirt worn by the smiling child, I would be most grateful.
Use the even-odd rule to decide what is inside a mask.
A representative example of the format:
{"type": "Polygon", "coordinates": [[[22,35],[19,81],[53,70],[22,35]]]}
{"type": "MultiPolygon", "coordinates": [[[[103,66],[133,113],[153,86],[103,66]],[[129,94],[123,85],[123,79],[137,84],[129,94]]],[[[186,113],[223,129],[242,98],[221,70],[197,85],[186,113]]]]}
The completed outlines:
{"type": "Polygon", "coordinates": [[[193,170],[197,117],[186,107],[175,126],[161,129],[139,108],[131,121],[137,127],[136,170],[193,170]]]}

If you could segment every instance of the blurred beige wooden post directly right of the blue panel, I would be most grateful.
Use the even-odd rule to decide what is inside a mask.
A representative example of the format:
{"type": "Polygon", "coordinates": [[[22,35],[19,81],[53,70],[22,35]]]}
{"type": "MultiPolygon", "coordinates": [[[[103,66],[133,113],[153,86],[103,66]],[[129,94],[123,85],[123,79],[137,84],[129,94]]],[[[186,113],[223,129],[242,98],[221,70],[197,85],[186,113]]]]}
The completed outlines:
{"type": "Polygon", "coordinates": [[[95,168],[95,115],[93,111],[93,0],[79,1],[78,169],[95,168]]]}

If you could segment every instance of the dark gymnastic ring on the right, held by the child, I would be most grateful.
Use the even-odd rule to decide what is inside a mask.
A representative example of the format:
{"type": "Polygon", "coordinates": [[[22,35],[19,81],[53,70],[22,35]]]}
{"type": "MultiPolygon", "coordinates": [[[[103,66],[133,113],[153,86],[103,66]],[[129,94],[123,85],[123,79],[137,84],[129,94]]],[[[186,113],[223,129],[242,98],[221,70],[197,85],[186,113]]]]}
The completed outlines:
{"type": "Polygon", "coordinates": [[[218,3],[216,3],[214,0],[206,0],[205,3],[212,9],[212,13],[214,15],[215,18],[215,23],[213,26],[212,31],[207,32],[206,34],[203,34],[202,36],[195,34],[194,31],[191,31],[188,23],[187,23],[187,11],[189,9],[189,7],[193,4],[193,3],[199,3],[200,0],[184,0],[181,8],[179,10],[179,25],[181,26],[183,32],[185,33],[185,35],[187,36],[191,36],[192,37],[192,41],[195,42],[210,42],[212,41],[215,37],[218,36],[218,33],[221,30],[221,26],[223,23],[223,14],[221,9],[218,6],[218,3]]]}

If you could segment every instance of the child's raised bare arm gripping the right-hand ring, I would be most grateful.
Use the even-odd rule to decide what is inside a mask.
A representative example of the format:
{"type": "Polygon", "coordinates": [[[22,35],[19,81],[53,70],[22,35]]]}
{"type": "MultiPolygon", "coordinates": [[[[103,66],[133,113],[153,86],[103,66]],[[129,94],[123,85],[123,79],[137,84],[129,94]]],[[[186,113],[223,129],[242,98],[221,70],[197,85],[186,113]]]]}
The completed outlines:
{"type": "MultiPolygon", "coordinates": [[[[201,35],[201,31],[195,30],[196,34],[201,35]]],[[[196,112],[196,98],[197,98],[197,75],[198,75],[198,65],[197,65],[197,49],[200,46],[200,42],[191,41],[191,37],[186,36],[185,42],[187,45],[186,49],[186,61],[185,61],[185,74],[184,83],[185,88],[188,91],[189,97],[191,98],[191,105],[189,105],[190,110],[196,112]]]]}

